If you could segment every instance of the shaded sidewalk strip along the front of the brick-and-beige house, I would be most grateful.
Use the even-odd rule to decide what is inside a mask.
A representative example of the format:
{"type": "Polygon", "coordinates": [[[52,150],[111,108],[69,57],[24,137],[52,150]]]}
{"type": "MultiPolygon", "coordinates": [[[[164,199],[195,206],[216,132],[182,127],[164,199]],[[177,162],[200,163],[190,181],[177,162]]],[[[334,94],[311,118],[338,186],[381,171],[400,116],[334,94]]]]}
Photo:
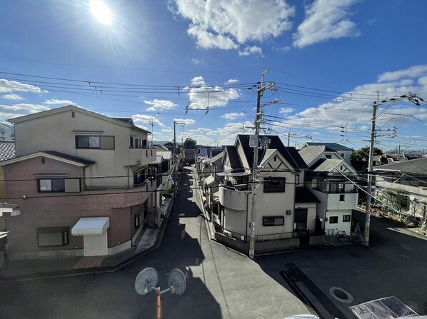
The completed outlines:
{"type": "MultiPolygon", "coordinates": [[[[173,205],[174,201],[171,201],[173,205]]],[[[169,212],[171,210],[169,209],[169,212]]],[[[34,260],[9,261],[0,268],[0,281],[51,278],[66,275],[113,272],[127,263],[159,247],[168,217],[161,228],[146,228],[142,236],[136,238],[134,247],[121,253],[106,256],[79,256],[68,258],[44,258],[34,260]]]]}

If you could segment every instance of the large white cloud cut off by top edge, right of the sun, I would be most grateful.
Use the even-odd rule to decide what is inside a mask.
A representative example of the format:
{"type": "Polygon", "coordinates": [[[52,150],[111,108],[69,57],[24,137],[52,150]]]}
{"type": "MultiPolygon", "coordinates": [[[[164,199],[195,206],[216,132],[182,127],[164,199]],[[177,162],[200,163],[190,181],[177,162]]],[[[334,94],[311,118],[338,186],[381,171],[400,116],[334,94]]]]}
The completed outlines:
{"type": "MultiPolygon", "coordinates": [[[[191,20],[188,33],[202,49],[237,49],[291,29],[293,6],[284,0],[174,0],[175,14],[191,20]],[[256,23],[254,23],[256,21],[256,23]]],[[[170,2],[170,3],[171,3],[170,2]]]]}

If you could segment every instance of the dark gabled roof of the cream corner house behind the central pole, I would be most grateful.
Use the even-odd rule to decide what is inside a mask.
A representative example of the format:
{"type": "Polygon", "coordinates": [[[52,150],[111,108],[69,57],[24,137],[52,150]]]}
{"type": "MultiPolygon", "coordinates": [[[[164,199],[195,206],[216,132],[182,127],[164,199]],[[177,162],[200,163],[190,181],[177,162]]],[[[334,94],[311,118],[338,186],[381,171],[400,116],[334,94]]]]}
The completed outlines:
{"type": "MultiPolygon", "coordinates": [[[[237,141],[241,144],[243,148],[243,153],[246,156],[246,160],[248,161],[249,165],[253,166],[253,148],[249,146],[249,135],[243,135],[238,134],[236,138],[237,141]]],[[[296,151],[296,148],[294,147],[286,147],[283,145],[281,139],[276,135],[260,135],[259,138],[268,138],[270,141],[270,144],[268,145],[268,148],[275,148],[277,149],[283,158],[286,159],[286,161],[292,166],[293,169],[297,171],[301,171],[307,168],[306,162],[303,161],[303,158],[298,154],[298,151],[296,151]]],[[[234,145],[236,145],[236,143],[234,145]]],[[[261,163],[263,160],[263,150],[258,150],[258,163],[261,163]]]]}

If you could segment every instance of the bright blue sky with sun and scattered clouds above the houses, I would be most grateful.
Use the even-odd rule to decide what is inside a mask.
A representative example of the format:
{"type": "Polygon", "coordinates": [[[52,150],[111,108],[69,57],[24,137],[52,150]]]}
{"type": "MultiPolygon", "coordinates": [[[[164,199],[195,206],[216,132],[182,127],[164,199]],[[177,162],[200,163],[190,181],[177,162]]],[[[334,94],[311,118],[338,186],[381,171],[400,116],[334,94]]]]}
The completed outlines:
{"type": "Polygon", "coordinates": [[[376,146],[427,151],[426,12],[421,0],[1,0],[0,121],[73,104],[133,118],[154,141],[172,141],[175,121],[179,142],[232,145],[253,134],[263,86],[260,133],[285,145],[368,146],[377,101],[376,146]]]}

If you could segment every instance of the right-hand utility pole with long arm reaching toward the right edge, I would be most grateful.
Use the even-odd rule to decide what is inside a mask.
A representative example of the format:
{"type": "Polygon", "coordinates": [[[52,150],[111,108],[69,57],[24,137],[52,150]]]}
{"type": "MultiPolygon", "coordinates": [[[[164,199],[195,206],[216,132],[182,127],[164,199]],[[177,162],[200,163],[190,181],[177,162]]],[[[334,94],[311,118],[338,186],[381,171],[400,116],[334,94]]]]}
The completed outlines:
{"type": "Polygon", "coordinates": [[[373,148],[375,146],[375,138],[376,138],[376,119],[382,113],[384,113],[387,108],[389,108],[393,103],[398,101],[409,101],[414,103],[416,106],[420,106],[420,101],[424,101],[423,98],[418,96],[417,94],[408,92],[403,94],[402,96],[393,97],[393,98],[385,98],[383,101],[379,101],[379,91],[377,92],[377,100],[373,102],[372,107],[372,126],[371,126],[371,145],[369,146],[369,158],[368,158],[368,187],[366,189],[366,216],[365,216],[365,237],[363,238],[363,245],[368,247],[369,245],[369,231],[371,229],[371,198],[372,196],[372,170],[373,170],[373,148]],[[378,111],[378,106],[388,104],[386,108],[381,111],[378,115],[376,112],[378,111]]]}

